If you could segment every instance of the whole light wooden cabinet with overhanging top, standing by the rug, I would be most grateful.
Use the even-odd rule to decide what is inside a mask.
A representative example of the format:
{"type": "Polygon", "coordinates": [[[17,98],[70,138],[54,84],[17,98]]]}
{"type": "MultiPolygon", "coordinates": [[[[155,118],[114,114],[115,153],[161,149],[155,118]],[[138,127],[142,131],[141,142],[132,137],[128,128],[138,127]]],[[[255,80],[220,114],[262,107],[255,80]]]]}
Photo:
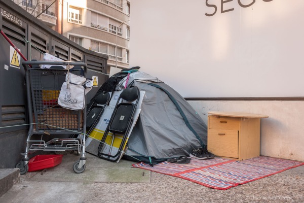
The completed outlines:
{"type": "Polygon", "coordinates": [[[260,118],[268,116],[239,112],[208,114],[209,152],[239,160],[260,155],[260,118]]]}

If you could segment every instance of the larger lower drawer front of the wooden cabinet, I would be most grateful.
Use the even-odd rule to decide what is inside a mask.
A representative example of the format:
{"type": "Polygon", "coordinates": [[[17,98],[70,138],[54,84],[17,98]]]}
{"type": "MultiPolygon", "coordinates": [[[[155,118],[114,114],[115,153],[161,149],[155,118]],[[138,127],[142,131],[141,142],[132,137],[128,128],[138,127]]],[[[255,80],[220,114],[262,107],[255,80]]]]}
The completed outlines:
{"type": "Polygon", "coordinates": [[[239,131],[208,129],[207,148],[216,156],[239,158],[239,131]]]}

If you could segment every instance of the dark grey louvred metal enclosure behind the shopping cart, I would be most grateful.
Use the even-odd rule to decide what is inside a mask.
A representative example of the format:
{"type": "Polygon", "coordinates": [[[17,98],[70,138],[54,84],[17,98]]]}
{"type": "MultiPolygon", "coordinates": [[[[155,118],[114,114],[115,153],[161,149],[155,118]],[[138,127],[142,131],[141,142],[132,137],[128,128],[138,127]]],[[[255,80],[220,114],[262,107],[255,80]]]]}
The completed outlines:
{"type": "MultiPolygon", "coordinates": [[[[107,79],[108,56],[85,49],[52,30],[13,1],[0,0],[0,29],[27,58],[43,60],[49,53],[65,61],[87,63],[87,76],[98,83],[87,95],[89,101],[107,79]]],[[[0,35],[0,168],[15,167],[24,151],[28,131],[24,61],[0,35]]]]}

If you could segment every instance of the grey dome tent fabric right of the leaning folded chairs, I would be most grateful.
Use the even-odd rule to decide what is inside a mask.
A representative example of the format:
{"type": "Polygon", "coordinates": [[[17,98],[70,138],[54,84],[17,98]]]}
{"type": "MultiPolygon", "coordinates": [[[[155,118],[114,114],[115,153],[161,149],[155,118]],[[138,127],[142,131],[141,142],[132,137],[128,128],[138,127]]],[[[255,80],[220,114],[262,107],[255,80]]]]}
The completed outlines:
{"type": "Polygon", "coordinates": [[[143,72],[131,74],[129,84],[145,91],[145,96],[125,158],[157,163],[188,156],[193,149],[207,145],[206,124],[177,91],[143,72]]]}

